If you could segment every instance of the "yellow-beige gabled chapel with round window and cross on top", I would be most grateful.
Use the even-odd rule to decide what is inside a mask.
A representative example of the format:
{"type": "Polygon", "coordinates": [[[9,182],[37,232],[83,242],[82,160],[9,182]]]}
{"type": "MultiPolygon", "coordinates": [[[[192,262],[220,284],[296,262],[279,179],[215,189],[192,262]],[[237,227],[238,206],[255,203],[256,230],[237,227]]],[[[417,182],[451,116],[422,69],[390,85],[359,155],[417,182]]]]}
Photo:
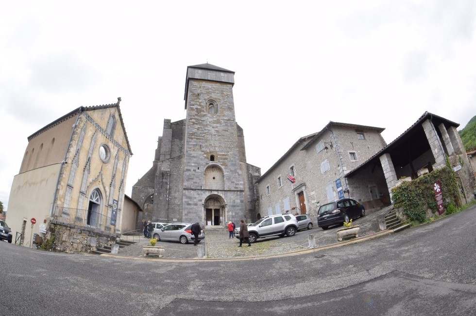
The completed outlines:
{"type": "Polygon", "coordinates": [[[115,104],[79,107],[28,137],[8,223],[15,243],[87,252],[115,242],[132,151],[115,104]]]}

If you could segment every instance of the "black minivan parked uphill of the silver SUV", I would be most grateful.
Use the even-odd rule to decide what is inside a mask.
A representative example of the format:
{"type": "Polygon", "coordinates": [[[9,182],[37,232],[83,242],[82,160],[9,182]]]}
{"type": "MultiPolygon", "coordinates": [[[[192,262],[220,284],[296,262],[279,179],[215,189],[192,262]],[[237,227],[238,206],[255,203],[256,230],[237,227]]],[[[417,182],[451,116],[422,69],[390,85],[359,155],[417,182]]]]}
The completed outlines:
{"type": "Polygon", "coordinates": [[[319,207],[317,226],[327,229],[361,216],[365,216],[364,205],[352,199],[341,199],[319,207]]]}

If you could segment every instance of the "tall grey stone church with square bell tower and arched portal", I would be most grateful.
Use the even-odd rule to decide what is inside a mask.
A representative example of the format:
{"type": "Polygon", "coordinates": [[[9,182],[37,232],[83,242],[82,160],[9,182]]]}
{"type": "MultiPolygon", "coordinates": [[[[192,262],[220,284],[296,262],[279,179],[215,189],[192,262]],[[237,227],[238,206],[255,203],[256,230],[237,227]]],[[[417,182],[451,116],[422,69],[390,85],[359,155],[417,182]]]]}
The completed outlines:
{"type": "Polygon", "coordinates": [[[235,118],[235,72],[209,63],[188,66],[187,118],[164,120],[152,168],[132,199],[152,221],[199,221],[223,226],[254,221],[260,169],[246,162],[243,129],[235,118]]]}

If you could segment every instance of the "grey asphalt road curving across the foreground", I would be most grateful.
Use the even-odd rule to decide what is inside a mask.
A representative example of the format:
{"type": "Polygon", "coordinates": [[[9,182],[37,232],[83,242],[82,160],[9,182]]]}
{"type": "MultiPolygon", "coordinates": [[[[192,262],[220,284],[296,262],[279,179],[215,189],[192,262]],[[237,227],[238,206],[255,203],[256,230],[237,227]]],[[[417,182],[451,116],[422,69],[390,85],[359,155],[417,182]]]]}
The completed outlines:
{"type": "MultiPolygon", "coordinates": [[[[4,315],[476,315],[476,206],[299,255],[142,260],[0,243],[4,315]]],[[[250,247],[252,248],[252,247],[250,247]]]]}

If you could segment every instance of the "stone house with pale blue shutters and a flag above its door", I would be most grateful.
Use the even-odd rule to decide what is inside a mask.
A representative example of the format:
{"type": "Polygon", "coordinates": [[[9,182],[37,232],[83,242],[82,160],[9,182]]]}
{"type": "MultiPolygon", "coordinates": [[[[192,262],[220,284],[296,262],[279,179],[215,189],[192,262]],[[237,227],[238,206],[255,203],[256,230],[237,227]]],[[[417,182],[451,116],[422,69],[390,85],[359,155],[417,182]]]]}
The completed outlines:
{"type": "Polygon", "coordinates": [[[373,196],[382,198],[375,186],[356,196],[344,175],[386,146],[383,130],[331,121],[300,138],[256,182],[257,217],[285,212],[317,216],[320,205],[344,196],[364,204],[373,196]]]}

